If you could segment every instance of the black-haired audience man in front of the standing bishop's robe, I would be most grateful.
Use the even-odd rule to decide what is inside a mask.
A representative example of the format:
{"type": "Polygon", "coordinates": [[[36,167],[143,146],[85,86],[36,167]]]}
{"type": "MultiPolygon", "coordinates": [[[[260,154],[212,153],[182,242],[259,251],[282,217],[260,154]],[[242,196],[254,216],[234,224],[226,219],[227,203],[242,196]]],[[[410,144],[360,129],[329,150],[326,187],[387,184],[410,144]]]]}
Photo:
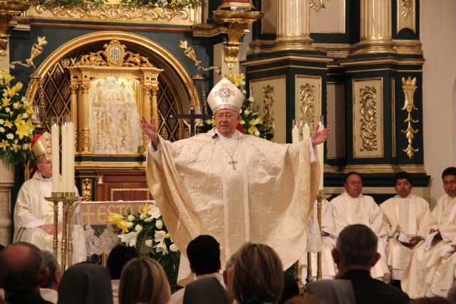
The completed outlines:
{"type": "MultiPolygon", "coordinates": [[[[190,269],[196,278],[216,278],[225,288],[223,277],[219,275],[221,268],[220,244],[212,236],[197,236],[187,246],[187,258],[190,261],[190,269]]],[[[207,281],[211,283],[212,281],[207,281]]],[[[173,293],[169,304],[182,304],[185,297],[185,288],[173,293]]]]}

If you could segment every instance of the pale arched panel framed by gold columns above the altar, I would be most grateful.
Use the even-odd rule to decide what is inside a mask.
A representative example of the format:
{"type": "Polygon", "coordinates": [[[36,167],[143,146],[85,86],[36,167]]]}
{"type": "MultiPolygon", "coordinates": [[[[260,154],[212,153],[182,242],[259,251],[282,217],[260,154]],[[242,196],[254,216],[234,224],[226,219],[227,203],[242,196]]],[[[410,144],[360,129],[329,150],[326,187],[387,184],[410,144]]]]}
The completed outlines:
{"type": "Polygon", "coordinates": [[[134,94],[115,83],[100,85],[90,94],[91,152],[135,154],[142,137],[134,94]]]}

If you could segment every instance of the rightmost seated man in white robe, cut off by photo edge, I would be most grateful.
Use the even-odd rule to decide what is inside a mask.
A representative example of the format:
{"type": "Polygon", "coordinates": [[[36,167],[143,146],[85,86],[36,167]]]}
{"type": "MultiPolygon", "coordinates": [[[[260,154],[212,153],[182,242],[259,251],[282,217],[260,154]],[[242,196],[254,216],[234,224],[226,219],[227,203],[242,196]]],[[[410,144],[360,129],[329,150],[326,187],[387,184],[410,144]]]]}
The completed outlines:
{"type": "Polygon", "coordinates": [[[410,298],[447,297],[455,282],[456,266],[456,167],[442,172],[444,194],[430,218],[430,231],[415,249],[405,268],[401,286],[410,298]]]}

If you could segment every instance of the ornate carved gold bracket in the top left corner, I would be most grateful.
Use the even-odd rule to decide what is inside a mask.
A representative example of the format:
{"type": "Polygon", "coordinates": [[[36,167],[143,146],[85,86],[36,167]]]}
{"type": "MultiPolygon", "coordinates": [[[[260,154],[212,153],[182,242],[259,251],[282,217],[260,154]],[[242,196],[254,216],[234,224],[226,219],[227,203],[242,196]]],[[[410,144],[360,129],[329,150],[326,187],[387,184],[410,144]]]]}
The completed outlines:
{"type": "Polygon", "coordinates": [[[9,35],[6,34],[9,28],[9,22],[14,16],[26,11],[30,4],[25,1],[5,1],[0,0],[0,61],[8,53],[9,35]]]}

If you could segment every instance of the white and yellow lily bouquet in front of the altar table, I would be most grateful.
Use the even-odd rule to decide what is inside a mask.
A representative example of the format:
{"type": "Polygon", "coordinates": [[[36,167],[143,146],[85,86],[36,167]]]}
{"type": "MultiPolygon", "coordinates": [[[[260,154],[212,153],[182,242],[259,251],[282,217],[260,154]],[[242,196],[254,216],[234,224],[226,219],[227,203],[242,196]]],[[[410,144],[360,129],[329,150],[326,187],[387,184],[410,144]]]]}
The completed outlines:
{"type": "Polygon", "coordinates": [[[177,280],[180,251],[170,238],[162,214],[155,204],[145,204],[137,214],[108,215],[108,221],[117,224],[122,233],[118,235],[126,246],[135,247],[140,253],[150,253],[165,269],[171,285],[177,280]]]}

